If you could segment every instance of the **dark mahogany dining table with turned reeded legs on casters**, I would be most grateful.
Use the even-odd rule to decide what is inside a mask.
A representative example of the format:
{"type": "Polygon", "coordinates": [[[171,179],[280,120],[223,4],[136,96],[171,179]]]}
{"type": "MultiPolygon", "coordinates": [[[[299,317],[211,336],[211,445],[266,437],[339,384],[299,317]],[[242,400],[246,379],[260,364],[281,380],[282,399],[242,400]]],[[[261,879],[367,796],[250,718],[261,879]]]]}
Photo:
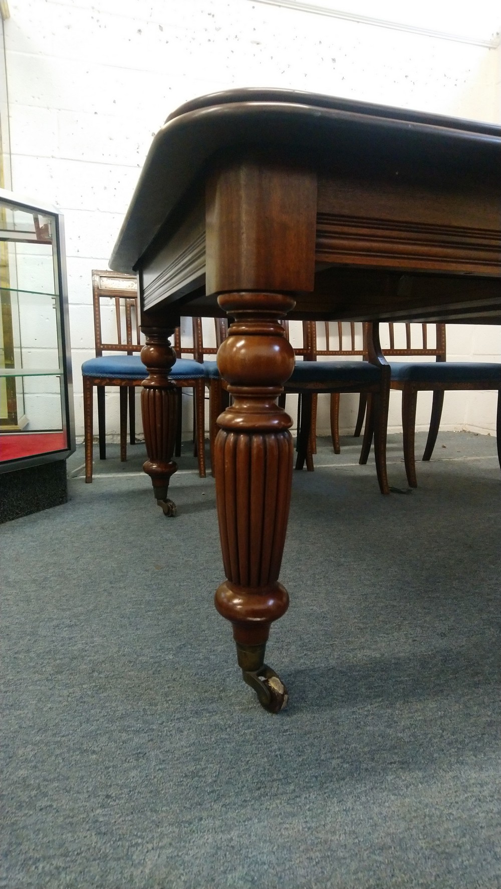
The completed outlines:
{"type": "Polygon", "coordinates": [[[180,316],[231,321],[218,365],[232,403],[214,452],[243,678],[277,712],[266,666],[292,476],[277,396],[294,367],[282,319],[498,321],[501,127],[307,92],[241,89],[188,101],[155,135],[110,259],[138,276],[145,471],[168,497],[180,316]]]}

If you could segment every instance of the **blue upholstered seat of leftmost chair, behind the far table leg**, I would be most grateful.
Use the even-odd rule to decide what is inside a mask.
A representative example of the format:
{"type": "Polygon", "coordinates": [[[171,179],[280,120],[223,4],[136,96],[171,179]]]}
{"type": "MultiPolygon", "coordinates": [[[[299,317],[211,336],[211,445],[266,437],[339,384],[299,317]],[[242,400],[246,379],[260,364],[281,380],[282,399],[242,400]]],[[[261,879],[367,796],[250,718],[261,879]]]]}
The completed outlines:
{"type": "MultiPolygon", "coordinates": [[[[115,380],[140,380],[147,377],[147,369],[139,355],[106,355],[90,358],[82,364],[83,376],[110,377],[115,380]]],[[[169,372],[172,380],[215,380],[219,377],[215,361],[200,364],[193,358],[178,358],[169,372]]]]}

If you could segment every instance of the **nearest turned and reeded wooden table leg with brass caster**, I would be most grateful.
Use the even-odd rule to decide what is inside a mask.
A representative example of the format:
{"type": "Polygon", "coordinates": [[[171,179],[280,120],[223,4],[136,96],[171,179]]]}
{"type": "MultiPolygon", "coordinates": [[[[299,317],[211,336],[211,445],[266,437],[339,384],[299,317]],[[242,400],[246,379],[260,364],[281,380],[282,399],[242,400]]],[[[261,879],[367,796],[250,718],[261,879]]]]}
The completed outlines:
{"type": "Polygon", "coordinates": [[[280,677],[265,664],[270,624],[289,605],[278,582],[292,479],[292,420],[276,398],[294,368],[280,318],[294,300],[280,293],[227,293],[219,305],[235,322],[218,366],[233,404],[218,418],[216,497],[227,581],[216,608],[233,624],[243,679],[276,713],[287,702],[280,677]]]}

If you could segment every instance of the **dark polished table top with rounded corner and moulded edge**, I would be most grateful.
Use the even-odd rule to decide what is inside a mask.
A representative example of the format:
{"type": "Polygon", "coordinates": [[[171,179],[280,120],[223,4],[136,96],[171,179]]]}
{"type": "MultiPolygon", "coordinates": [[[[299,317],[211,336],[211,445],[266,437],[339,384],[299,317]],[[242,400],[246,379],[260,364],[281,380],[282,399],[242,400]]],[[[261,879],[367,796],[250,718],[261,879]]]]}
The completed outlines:
{"type": "Polygon", "coordinates": [[[432,185],[498,188],[501,127],[290,90],[240,89],[188,101],[155,135],[110,259],[131,273],[211,157],[273,149],[317,170],[384,166],[432,185]]]}

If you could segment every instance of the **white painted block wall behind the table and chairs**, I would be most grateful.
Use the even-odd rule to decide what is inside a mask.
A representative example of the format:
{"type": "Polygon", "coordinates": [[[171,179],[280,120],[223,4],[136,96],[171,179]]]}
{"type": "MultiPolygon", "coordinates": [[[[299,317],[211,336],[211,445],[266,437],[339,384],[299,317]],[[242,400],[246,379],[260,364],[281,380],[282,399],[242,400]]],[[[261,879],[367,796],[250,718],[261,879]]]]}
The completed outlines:
{"type": "MultiPolygon", "coordinates": [[[[364,6],[365,14],[378,14],[377,0],[364,6]]],[[[232,86],[280,86],[501,121],[499,48],[258,0],[9,0],[9,7],[4,39],[12,188],[57,204],[65,214],[80,437],[78,371],[93,355],[91,268],[107,268],[151,139],[181,102],[232,86]]],[[[491,36],[489,23],[492,31],[501,19],[498,4],[481,0],[470,7],[472,21],[483,13],[484,36],[491,36]]],[[[362,0],[346,0],[344,8],[363,12],[362,0]]],[[[392,0],[380,9],[386,19],[400,12],[392,0]]],[[[457,16],[449,9],[453,30],[457,16]]],[[[425,15],[427,27],[443,28],[433,4],[416,5],[416,12],[420,24],[425,15]]],[[[468,33],[467,22],[464,27],[468,33]]],[[[501,351],[497,328],[451,326],[448,339],[450,358],[491,360],[501,351]]],[[[353,428],[356,397],[342,402],[341,427],[353,428]]],[[[421,396],[422,428],[427,402],[421,396]]],[[[111,393],[108,431],[115,434],[116,405],[111,393]]],[[[399,412],[395,395],[390,428],[399,427],[399,412]]],[[[492,430],[495,413],[491,393],[450,393],[443,428],[492,430]]],[[[325,396],[319,426],[328,427],[325,396]]]]}

